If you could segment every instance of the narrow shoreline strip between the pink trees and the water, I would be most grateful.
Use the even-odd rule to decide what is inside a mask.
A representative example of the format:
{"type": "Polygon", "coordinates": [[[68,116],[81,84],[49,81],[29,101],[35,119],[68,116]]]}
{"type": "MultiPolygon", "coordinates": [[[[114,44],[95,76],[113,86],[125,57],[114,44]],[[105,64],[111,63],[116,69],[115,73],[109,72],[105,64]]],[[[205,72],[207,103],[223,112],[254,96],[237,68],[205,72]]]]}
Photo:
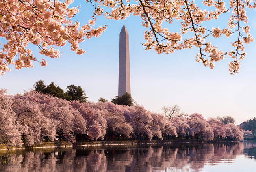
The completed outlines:
{"type": "Polygon", "coordinates": [[[0,144],[0,151],[37,149],[37,148],[60,148],[60,147],[93,147],[93,146],[116,146],[116,145],[139,145],[139,144],[189,144],[189,143],[225,143],[242,142],[243,140],[126,140],[126,141],[87,141],[87,142],[45,142],[34,146],[7,147],[0,144]]]}

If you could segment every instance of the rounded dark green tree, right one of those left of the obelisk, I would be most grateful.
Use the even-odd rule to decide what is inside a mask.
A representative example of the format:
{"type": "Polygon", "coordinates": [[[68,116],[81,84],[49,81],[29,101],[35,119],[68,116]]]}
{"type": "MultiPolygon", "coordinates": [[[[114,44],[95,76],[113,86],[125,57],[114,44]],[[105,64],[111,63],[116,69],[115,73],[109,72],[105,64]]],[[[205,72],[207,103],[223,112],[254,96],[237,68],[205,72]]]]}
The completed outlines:
{"type": "Polygon", "coordinates": [[[87,102],[88,97],[86,97],[85,91],[82,90],[82,87],[69,85],[67,86],[67,94],[71,100],[79,100],[80,102],[87,102]]]}

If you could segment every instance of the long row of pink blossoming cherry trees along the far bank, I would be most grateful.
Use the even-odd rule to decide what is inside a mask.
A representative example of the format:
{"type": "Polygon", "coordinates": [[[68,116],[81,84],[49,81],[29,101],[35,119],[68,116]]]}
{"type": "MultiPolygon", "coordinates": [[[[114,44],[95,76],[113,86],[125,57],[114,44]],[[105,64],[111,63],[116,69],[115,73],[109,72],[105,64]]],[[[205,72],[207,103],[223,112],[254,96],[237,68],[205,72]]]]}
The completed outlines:
{"type": "Polygon", "coordinates": [[[242,129],[217,119],[208,121],[201,114],[187,118],[165,118],[142,105],[125,106],[111,102],[66,101],[36,91],[7,95],[0,90],[0,143],[8,146],[41,144],[63,138],[76,142],[106,140],[123,136],[130,139],[243,139],[242,129]],[[23,142],[22,142],[23,141],[23,142]]]}

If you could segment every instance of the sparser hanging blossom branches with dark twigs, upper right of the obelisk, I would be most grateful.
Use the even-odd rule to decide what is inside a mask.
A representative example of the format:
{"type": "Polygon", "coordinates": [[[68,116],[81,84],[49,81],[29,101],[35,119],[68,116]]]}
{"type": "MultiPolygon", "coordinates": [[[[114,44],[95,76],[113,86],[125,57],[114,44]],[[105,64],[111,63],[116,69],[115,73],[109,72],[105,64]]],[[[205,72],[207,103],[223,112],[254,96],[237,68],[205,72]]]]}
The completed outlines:
{"type": "Polygon", "coordinates": [[[197,47],[199,54],[196,55],[197,62],[202,62],[205,66],[214,68],[214,63],[223,60],[228,54],[234,61],[230,62],[230,74],[238,73],[240,62],[245,58],[245,47],[243,43],[249,44],[254,39],[249,34],[250,26],[245,25],[248,22],[246,8],[256,9],[255,0],[203,0],[203,6],[195,0],[136,0],[137,4],[131,4],[129,0],[87,0],[95,6],[95,13],[102,15],[104,9],[100,6],[106,6],[110,11],[106,11],[104,15],[108,19],[126,19],[132,15],[140,16],[142,25],[149,28],[145,31],[146,50],[154,49],[158,54],[174,53],[176,50],[197,47]],[[100,11],[100,13],[97,13],[100,11]],[[223,13],[230,13],[230,19],[227,26],[223,28],[206,28],[205,22],[219,19],[223,13]],[[172,32],[168,28],[163,28],[163,22],[173,24],[174,21],[180,20],[180,33],[172,32]],[[242,31],[244,34],[242,34],[242,31]],[[182,39],[182,35],[189,34],[189,38],[182,39]],[[221,35],[230,37],[236,35],[237,39],[232,42],[236,50],[224,52],[217,46],[211,45],[206,39],[209,36],[219,38],[221,35]],[[230,52],[234,52],[230,55],[230,52]]]}

